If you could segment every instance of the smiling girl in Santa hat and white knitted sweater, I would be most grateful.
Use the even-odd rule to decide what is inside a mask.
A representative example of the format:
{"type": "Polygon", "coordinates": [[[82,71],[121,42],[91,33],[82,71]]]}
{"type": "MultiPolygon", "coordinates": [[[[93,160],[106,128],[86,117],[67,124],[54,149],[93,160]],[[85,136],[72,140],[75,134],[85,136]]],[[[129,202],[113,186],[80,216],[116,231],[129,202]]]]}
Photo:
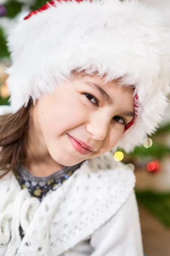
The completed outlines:
{"type": "Polygon", "coordinates": [[[135,178],[110,151],[161,121],[166,20],[135,0],[51,1],[8,46],[0,256],[142,256],[135,178]]]}

